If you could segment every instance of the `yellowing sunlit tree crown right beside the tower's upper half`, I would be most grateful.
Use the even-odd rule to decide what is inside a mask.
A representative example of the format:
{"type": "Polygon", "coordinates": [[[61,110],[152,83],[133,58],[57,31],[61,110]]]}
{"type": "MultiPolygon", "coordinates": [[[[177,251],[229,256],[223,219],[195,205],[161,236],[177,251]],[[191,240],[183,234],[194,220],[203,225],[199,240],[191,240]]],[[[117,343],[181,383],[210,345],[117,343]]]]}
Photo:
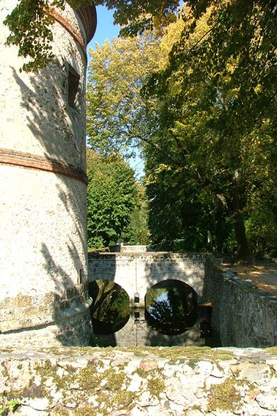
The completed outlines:
{"type": "MultiPolygon", "coordinates": [[[[140,90],[157,68],[157,42],[152,35],[115,38],[90,49],[87,83],[87,134],[100,153],[132,153],[130,144],[147,140],[150,100],[140,90]]],[[[152,113],[151,113],[152,114],[152,113]]]]}

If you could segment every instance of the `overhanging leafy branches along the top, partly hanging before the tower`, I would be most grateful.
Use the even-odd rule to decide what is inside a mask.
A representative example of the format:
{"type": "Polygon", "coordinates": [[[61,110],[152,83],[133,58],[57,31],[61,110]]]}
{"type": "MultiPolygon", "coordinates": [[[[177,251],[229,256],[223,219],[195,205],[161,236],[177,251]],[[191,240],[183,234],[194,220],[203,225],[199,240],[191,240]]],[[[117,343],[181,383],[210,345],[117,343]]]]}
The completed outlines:
{"type": "MultiPolygon", "coordinates": [[[[51,8],[64,9],[66,3],[73,8],[88,6],[91,0],[19,0],[4,24],[10,29],[7,44],[19,47],[19,56],[28,58],[22,69],[37,71],[53,60],[51,8]]],[[[96,6],[116,8],[114,23],[123,26],[122,35],[142,33],[145,28],[162,28],[176,18],[178,0],[95,0],[96,6]]]]}

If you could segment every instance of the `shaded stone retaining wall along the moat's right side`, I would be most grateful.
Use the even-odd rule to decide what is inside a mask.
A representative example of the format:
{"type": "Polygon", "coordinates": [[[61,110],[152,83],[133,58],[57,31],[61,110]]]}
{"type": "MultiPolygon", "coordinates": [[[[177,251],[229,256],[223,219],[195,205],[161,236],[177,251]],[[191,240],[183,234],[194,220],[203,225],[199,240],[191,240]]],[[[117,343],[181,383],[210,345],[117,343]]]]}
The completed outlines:
{"type": "Polygon", "coordinates": [[[277,296],[207,257],[204,302],[213,304],[212,323],[224,346],[277,345],[277,296]]]}

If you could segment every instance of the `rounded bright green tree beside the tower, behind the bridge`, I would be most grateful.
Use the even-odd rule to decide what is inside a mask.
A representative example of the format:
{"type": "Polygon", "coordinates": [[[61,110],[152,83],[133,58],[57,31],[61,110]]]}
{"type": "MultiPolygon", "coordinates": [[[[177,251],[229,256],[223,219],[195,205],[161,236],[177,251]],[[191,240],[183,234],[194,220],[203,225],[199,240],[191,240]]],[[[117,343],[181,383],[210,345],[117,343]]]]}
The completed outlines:
{"type": "Polygon", "coordinates": [[[87,232],[89,248],[120,239],[136,206],[134,171],[118,154],[87,150],[87,232]]]}

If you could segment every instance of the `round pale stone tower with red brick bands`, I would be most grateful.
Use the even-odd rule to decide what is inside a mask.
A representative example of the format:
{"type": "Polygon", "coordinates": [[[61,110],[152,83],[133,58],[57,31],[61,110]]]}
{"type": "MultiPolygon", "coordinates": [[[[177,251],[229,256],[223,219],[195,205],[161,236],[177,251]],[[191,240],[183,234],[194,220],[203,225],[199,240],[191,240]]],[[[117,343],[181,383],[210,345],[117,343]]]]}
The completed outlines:
{"type": "Polygon", "coordinates": [[[87,345],[86,46],[94,6],[52,10],[55,60],[19,69],[0,4],[0,346],[87,345]]]}

